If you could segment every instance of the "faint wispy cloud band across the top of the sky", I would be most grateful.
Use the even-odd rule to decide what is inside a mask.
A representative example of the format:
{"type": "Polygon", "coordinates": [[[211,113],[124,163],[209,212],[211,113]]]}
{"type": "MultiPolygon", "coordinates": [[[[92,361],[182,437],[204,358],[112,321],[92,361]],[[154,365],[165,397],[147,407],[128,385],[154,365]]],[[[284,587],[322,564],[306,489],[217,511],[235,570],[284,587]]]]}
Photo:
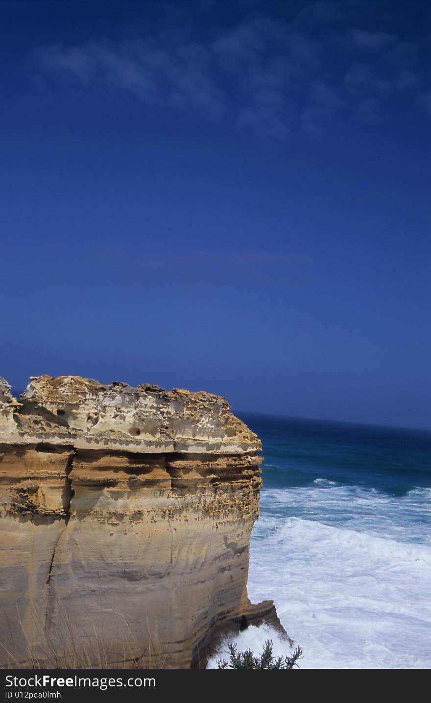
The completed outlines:
{"type": "Polygon", "coordinates": [[[205,37],[189,19],[175,32],[41,46],[35,58],[44,75],[110,86],[146,105],[278,138],[297,129],[321,136],[337,115],[375,115],[405,91],[429,110],[430,47],[371,30],[369,13],[361,2],[316,2],[290,22],[245,16],[229,30],[206,27],[205,37]]]}

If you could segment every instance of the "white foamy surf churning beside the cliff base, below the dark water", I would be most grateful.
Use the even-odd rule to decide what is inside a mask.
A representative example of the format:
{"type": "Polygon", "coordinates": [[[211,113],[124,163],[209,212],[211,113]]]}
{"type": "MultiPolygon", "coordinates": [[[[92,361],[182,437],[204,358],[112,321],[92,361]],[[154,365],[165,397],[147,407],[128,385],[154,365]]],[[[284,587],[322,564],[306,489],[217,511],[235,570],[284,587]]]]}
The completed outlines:
{"type": "MultiPolygon", "coordinates": [[[[250,599],[274,600],[304,650],[302,668],[430,668],[431,491],[391,498],[357,487],[322,488],[263,492],[250,599]],[[289,510],[301,517],[289,517],[289,510]]],[[[248,628],[237,641],[257,653],[269,638],[276,654],[287,652],[264,627],[248,628]]],[[[226,650],[225,643],[218,657],[228,659],[226,650]]]]}

